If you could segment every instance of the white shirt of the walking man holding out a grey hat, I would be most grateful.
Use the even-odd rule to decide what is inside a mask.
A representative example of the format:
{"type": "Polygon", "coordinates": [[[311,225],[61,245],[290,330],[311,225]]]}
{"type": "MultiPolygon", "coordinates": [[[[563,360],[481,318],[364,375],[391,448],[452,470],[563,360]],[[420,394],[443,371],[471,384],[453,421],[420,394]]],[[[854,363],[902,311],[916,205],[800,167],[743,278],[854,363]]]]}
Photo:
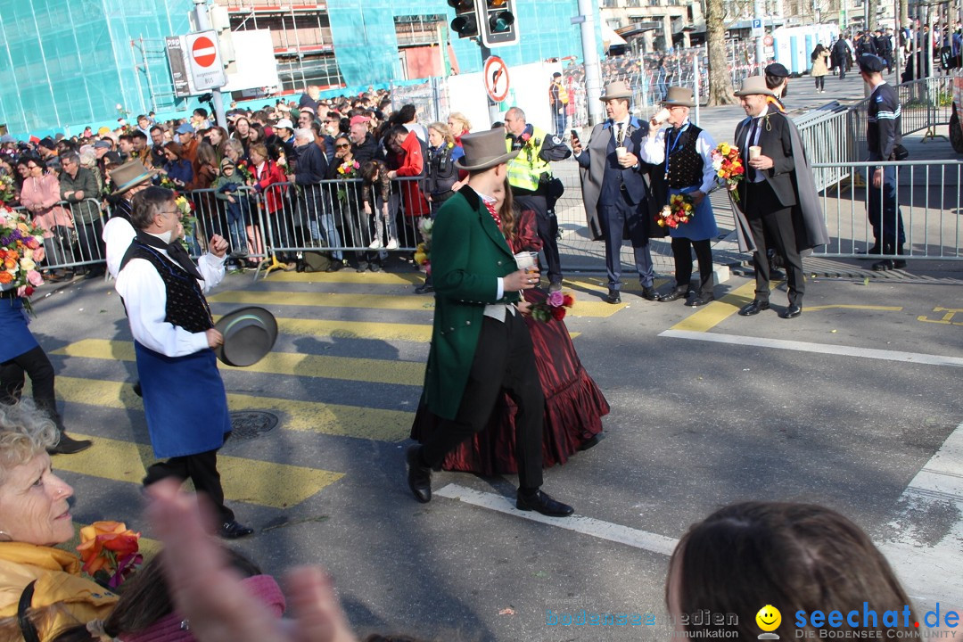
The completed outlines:
{"type": "MultiPolygon", "coordinates": [[[[154,249],[169,259],[167,250],[154,249]]],[[[204,277],[197,283],[203,292],[221,283],[225,258],[226,255],[218,258],[205,254],[197,261],[197,269],[204,277]]],[[[206,332],[188,332],[164,321],[168,314],[168,290],[164,279],[146,259],[131,259],[117,274],[114,289],[123,297],[131,334],[144,347],[169,357],[182,357],[208,348],[206,332]]]]}

